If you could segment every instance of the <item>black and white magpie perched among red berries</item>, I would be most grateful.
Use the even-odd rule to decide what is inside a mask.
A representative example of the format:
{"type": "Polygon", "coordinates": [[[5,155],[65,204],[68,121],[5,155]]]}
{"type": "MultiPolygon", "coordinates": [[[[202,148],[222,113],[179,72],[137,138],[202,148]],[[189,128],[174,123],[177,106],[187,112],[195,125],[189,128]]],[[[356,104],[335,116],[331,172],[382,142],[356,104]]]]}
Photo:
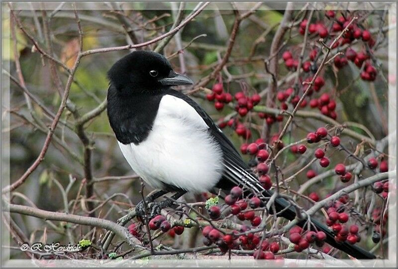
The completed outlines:
{"type": "MultiPolygon", "coordinates": [[[[160,189],[150,199],[167,192],[178,198],[239,185],[246,193],[272,195],[260,184],[229,139],[194,100],[171,89],[193,84],[173,71],[161,54],[135,51],[118,60],[108,71],[107,114],[120,150],[147,184],[160,189]]],[[[296,211],[283,199],[275,200],[276,211],[289,220],[296,211]]],[[[326,242],[357,259],[374,255],[348,243],[336,243],[333,233],[312,220],[326,242]]],[[[299,222],[304,226],[305,221],[299,222]]],[[[305,225],[306,226],[306,225],[305,225]]],[[[304,227],[305,228],[305,227],[304,227]]]]}

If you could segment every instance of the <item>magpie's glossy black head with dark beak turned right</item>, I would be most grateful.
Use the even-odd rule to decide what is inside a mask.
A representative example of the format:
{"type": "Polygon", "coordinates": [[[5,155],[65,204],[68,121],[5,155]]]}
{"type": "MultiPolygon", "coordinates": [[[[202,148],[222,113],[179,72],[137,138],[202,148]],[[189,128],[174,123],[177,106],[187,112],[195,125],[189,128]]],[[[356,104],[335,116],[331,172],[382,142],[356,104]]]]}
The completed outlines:
{"type": "Polygon", "coordinates": [[[173,71],[169,61],[152,51],[134,51],[117,61],[108,71],[110,84],[123,94],[156,91],[165,87],[193,84],[173,71]]]}

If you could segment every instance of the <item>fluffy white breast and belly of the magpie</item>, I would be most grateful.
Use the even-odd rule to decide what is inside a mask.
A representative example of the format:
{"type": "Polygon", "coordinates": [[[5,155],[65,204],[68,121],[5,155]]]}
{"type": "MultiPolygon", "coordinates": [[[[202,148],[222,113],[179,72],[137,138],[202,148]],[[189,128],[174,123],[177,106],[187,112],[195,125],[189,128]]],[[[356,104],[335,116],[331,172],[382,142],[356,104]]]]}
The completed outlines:
{"type": "Polygon", "coordinates": [[[167,183],[203,192],[218,182],[222,153],[207,132],[208,126],[183,99],[163,96],[152,131],[138,146],[120,149],[131,168],[149,185],[163,188],[167,183]]]}

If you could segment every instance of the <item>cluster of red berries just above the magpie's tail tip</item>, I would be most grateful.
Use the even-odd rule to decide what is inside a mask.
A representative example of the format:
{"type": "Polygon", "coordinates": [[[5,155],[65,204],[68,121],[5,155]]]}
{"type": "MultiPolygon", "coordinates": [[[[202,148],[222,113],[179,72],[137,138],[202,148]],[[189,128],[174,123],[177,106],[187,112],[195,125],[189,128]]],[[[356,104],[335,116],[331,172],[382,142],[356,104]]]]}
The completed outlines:
{"type": "Polygon", "coordinates": [[[347,213],[338,213],[336,207],[331,206],[327,209],[327,214],[328,218],[326,219],[326,224],[331,227],[334,232],[334,240],[336,242],[342,243],[347,241],[354,245],[361,240],[361,237],[358,235],[358,225],[352,224],[347,227],[345,224],[349,220],[349,215],[347,213]]]}

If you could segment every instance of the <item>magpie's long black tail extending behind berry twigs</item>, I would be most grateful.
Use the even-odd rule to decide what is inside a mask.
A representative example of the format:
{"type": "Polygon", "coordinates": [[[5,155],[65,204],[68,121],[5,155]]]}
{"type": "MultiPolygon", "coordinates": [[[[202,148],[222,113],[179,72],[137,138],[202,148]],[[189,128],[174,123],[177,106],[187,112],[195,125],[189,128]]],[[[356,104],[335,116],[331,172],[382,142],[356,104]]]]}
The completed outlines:
{"type": "MultiPolygon", "coordinates": [[[[268,195],[271,196],[272,192],[267,191],[267,196],[268,195]]],[[[280,214],[278,214],[278,216],[284,217],[288,220],[294,220],[296,218],[296,211],[291,208],[291,204],[284,198],[275,199],[275,209],[277,212],[281,212],[283,210],[280,214]]],[[[323,231],[326,234],[325,242],[328,243],[330,246],[337,248],[356,259],[376,259],[375,255],[360,247],[351,245],[348,242],[343,242],[343,243],[336,242],[334,240],[334,234],[324,224],[313,219],[311,219],[311,223],[313,224],[310,226],[312,230],[315,230],[316,227],[316,230],[323,231]]],[[[303,229],[307,228],[305,220],[298,222],[298,226],[300,226],[303,229]]]]}

